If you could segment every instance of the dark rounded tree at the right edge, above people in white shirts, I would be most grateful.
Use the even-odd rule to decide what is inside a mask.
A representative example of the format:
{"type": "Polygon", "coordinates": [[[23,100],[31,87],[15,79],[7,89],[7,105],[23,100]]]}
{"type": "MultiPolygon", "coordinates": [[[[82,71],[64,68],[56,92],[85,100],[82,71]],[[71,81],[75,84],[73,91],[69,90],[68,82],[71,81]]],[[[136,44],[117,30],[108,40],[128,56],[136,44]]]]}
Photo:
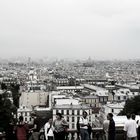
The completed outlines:
{"type": "Polygon", "coordinates": [[[126,115],[127,113],[140,114],[140,95],[134,98],[127,99],[124,109],[119,113],[119,115],[126,115]]]}

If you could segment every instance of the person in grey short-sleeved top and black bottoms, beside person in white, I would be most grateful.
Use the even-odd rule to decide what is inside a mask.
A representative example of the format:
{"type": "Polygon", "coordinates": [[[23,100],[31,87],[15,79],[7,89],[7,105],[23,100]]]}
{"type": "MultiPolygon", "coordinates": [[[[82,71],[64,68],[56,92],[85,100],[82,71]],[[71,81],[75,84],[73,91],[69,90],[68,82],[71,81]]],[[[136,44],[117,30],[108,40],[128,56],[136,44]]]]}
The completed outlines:
{"type": "Polygon", "coordinates": [[[68,124],[63,118],[61,113],[56,114],[56,119],[53,121],[53,127],[54,127],[54,139],[65,140],[66,136],[65,128],[68,127],[68,124]]]}

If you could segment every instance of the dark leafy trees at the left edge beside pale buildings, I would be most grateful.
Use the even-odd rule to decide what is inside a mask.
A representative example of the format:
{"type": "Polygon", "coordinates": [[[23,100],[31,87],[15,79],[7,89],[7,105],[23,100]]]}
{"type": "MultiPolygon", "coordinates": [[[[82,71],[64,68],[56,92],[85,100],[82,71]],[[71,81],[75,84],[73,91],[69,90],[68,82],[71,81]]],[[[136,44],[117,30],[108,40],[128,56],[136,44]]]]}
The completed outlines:
{"type": "Polygon", "coordinates": [[[11,84],[7,86],[1,83],[1,89],[3,93],[0,94],[0,131],[7,129],[8,124],[13,120],[13,115],[17,114],[17,108],[19,107],[19,88],[18,84],[11,84]],[[9,98],[8,91],[11,91],[13,102],[9,98]]]}

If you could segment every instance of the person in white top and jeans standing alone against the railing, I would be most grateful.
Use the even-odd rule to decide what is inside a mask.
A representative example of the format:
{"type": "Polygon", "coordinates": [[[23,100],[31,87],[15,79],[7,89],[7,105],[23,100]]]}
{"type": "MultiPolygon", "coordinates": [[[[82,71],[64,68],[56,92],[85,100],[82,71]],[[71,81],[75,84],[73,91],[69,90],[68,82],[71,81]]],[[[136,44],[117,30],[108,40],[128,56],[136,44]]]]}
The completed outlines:
{"type": "Polygon", "coordinates": [[[88,133],[89,121],[87,119],[86,111],[84,111],[83,116],[80,117],[79,124],[80,124],[81,140],[89,140],[89,133],[88,133]]]}

